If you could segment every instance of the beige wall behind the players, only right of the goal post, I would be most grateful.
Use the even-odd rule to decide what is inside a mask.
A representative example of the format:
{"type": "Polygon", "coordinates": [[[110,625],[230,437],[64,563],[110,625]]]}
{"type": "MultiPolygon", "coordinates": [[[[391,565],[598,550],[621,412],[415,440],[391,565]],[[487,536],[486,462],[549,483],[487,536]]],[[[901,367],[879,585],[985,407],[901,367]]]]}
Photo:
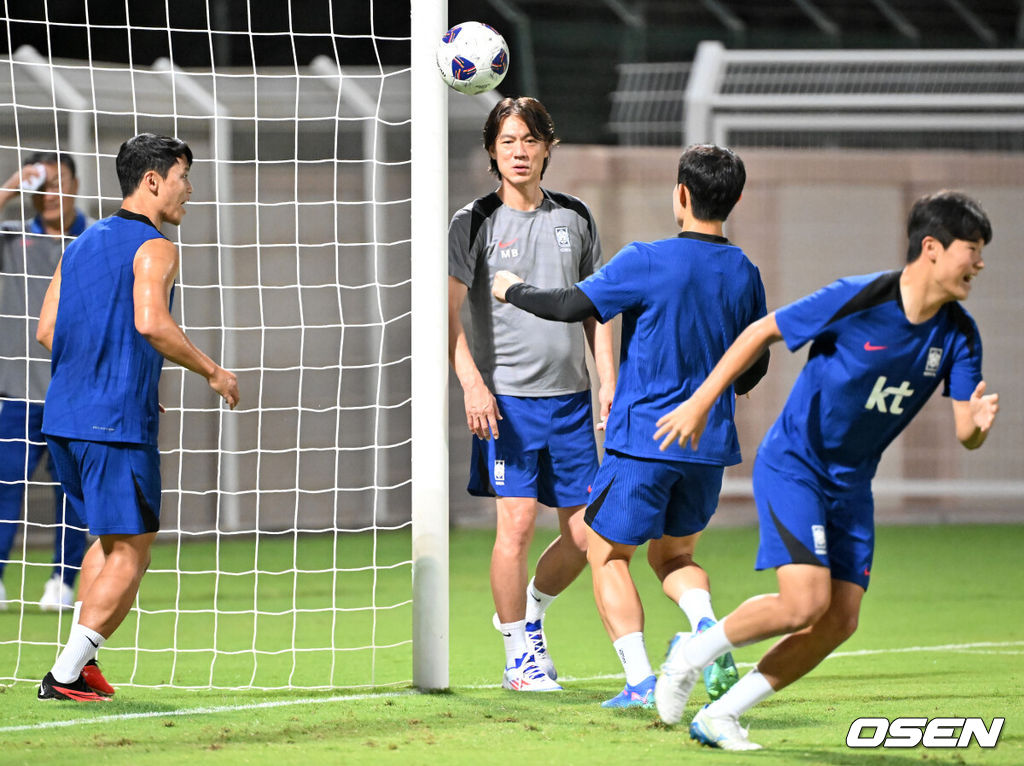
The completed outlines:
{"type": "MultiPolygon", "coordinates": [[[[879,472],[887,478],[962,479],[991,482],[1024,478],[1024,158],[984,154],[882,152],[741,151],[748,171],[743,197],[726,224],[726,235],[761,269],[768,308],[784,305],[838,276],[899,268],[906,253],[905,220],[923,194],[959,188],[978,199],[994,228],[986,268],[966,307],[984,340],[989,391],[1002,401],[997,427],[984,448],[969,453],[953,437],[948,399],[936,394],[913,425],[889,449],[879,472]]],[[[670,195],[678,150],[559,146],[545,184],[578,195],[594,211],[610,257],[634,240],[675,233],[670,195]]],[[[757,444],[771,425],[796,379],[806,350],[773,349],[768,376],[737,407],[743,464],[728,479],[750,475],[757,444]]],[[[458,383],[454,384],[458,387],[458,383]]],[[[465,485],[465,427],[461,396],[452,398],[453,505],[465,485]],[[461,426],[461,428],[459,427],[461,426]]],[[[465,448],[468,449],[468,448],[465,448]]],[[[466,501],[462,501],[466,502],[466,501]]],[[[462,511],[482,520],[489,504],[468,503],[462,511]]],[[[737,504],[734,504],[737,505],[737,504]]],[[[733,514],[753,520],[750,503],[733,514]]],[[[905,501],[879,494],[880,518],[1024,518],[1024,499],[965,501],[936,494],[905,501]]]]}

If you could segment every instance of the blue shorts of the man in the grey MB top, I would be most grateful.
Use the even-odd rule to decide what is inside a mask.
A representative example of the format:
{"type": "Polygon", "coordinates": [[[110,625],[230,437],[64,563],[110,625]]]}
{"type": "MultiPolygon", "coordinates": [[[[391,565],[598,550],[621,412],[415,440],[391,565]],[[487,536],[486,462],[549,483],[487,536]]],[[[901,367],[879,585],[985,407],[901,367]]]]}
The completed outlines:
{"type": "Polygon", "coordinates": [[[590,391],[495,398],[499,438],[473,437],[469,494],[537,498],[549,508],[585,505],[597,473],[590,391]]]}

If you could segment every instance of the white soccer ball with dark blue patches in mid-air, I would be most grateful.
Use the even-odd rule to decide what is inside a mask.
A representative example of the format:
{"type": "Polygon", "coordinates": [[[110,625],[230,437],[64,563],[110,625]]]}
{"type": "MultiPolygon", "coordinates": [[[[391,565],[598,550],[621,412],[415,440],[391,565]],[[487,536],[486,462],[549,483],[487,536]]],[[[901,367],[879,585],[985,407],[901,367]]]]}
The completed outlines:
{"type": "Polygon", "coordinates": [[[509,46],[493,27],[458,24],[437,45],[437,69],[449,87],[475,95],[497,88],[509,71],[509,46]]]}

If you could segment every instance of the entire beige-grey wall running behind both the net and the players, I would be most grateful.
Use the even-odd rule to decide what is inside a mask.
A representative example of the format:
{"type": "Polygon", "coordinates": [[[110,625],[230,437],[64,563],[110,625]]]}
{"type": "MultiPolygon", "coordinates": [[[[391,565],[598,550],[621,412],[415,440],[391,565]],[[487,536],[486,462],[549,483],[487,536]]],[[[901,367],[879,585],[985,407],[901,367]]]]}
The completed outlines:
{"type": "MultiPolygon", "coordinates": [[[[243,408],[228,416],[197,376],[174,367],[165,371],[161,396],[168,413],[161,446],[170,491],[165,493],[165,528],[358,528],[371,520],[408,519],[408,166],[383,171],[392,202],[380,207],[374,233],[359,165],[330,157],[258,169],[239,164],[232,166],[234,202],[218,205],[203,133],[188,137],[197,156],[197,190],[178,235],[182,271],[175,312],[201,347],[240,371],[243,408]],[[375,240],[381,244],[374,246],[375,240]],[[378,289],[375,283],[390,287],[378,289]],[[385,367],[379,369],[378,361],[385,367]],[[228,418],[233,442],[223,430],[228,418]],[[233,454],[228,454],[232,443],[233,454]],[[301,459],[297,445],[303,448],[301,459]],[[225,496],[218,488],[239,494],[225,496]],[[236,500],[225,502],[225,497],[236,500]]],[[[358,136],[340,140],[347,145],[358,136]]],[[[495,185],[478,140],[475,131],[452,135],[452,212],[495,185]]],[[[401,137],[391,145],[400,158],[401,137]]],[[[101,150],[116,151],[113,134],[101,150]]],[[[330,154],[331,147],[324,151],[330,154]]],[[[998,427],[981,452],[967,453],[953,439],[948,403],[936,396],[891,448],[881,476],[1020,479],[1024,416],[1014,402],[1024,398],[1018,340],[1024,261],[1017,253],[1017,243],[1024,241],[1019,214],[1024,158],[742,154],[749,181],[727,235],[761,268],[769,308],[840,275],[899,267],[903,221],[921,194],[954,186],[983,203],[995,238],[968,308],[984,336],[990,389],[1004,397],[998,427]]],[[[4,167],[13,167],[13,153],[3,159],[4,167]]],[[[675,232],[669,195],[677,161],[675,150],[559,146],[545,184],[588,202],[610,257],[629,241],[675,232]]],[[[99,173],[104,214],[113,212],[118,199],[113,163],[108,164],[99,173]]],[[[5,212],[16,216],[16,211],[5,212]]],[[[748,458],[802,359],[803,353],[776,350],[767,379],[740,401],[748,458]]],[[[494,504],[469,498],[464,490],[469,438],[454,378],[449,411],[452,521],[489,524],[494,504]]],[[[727,477],[742,480],[749,470],[746,462],[727,477]]],[[[31,518],[47,523],[46,487],[34,485],[30,497],[31,518]]],[[[753,518],[749,502],[733,505],[737,510],[731,517],[753,518]]],[[[923,508],[915,517],[981,518],[978,514],[988,513],[983,505],[937,497],[914,505],[923,508]]],[[[1000,503],[993,513],[1010,508],[1019,516],[1020,506],[1018,498],[1000,503]]],[[[45,539],[46,531],[41,534],[45,539]]]]}

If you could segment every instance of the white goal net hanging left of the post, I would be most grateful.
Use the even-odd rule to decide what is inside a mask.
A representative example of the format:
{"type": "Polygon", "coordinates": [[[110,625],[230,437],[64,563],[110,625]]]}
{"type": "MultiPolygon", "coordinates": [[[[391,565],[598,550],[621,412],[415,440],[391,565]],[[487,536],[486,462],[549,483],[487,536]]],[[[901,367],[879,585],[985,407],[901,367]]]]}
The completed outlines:
{"type": "MultiPolygon", "coordinates": [[[[221,3],[200,17],[173,3],[129,3],[51,18],[47,5],[3,19],[0,174],[35,152],[67,154],[77,207],[99,218],[120,206],[122,141],[140,132],[186,140],[195,192],[181,225],[165,231],[181,253],[173,313],[238,373],[242,396],[230,412],[202,378],[165,366],[161,531],[137,602],[101,650],[108,677],[201,688],[409,683],[422,630],[412,551],[430,557],[417,587],[446,590],[436,561],[446,554],[446,505],[414,546],[424,522],[414,521],[413,314],[423,309],[411,287],[420,75],[408,15],[373,0],[305,4],[301,15],[250,0],[230,17],[221,3]]],[[[421,27],[436,39],[444,4],[431,5],[440,13],[421,27]]],[[[436,136],[445,100],[433,81],[420,91],[440,104],[426,118],[436,136]]],[[[442,206],[444,181],[440,173],[433,195],[442,206]]],[[[35,211],[23,198],[4,218],[29,230],[35,211]]],[[[442,208],[433,228],[443,233],[445,219],[442,208]]],[[[5,268],[5,292],[40,279],[5,268]]],[[[420,324],[440,335],[436,305],[420,324]]],[[[33,309],[5,310],[0,323],[25,342],[0,364],[28,375],[33,309]]],[[[421,345],[433,353],[436,342],[421,345]]],[[[444,379],[441,348],[430,380],[444,379]]],[[[443,400],[432,407],[443,412],[443,400]]],[[[445,450],[427,452],[444,465],[445,450]]],[[[61,534],[46,500],[52,479],[41,466],[19,481],[19,513],[0,521],[17,526],[0,621],[5,682],[38,681],[71,624],[70,612],[37,605],[61,534]]],[[[438,600],[446,621],[445,608],[438,600]]],[[[432,650],[444,649],[442,638],[432,650]]],[[[446,685],[446,658],[436,662],[445,675],[427,685],[446,685]]]]}

